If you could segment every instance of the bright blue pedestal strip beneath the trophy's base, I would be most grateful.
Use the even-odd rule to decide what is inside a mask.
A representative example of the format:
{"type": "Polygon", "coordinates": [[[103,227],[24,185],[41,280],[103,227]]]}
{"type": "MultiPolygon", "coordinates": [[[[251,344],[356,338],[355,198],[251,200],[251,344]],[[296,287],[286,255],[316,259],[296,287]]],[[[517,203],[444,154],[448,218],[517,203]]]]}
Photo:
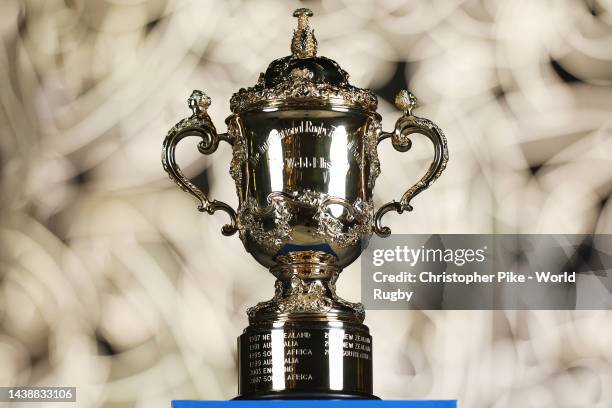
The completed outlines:
{"type": "Polygon", "coordinates": [[[251,400],[172,401],[172,408],[457,408],[457,401],[251,400]]]}

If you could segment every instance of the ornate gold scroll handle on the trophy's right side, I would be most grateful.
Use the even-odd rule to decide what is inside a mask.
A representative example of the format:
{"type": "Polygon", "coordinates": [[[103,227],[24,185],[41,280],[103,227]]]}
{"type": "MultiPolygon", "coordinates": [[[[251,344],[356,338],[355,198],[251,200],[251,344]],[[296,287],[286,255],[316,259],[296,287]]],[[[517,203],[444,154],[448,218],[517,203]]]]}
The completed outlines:
{"type": "Polygon", "coordinates": [[[408,91],[400,91],[395,97],[395,106],[404,111],[404,114],[395,123],[393,133],[381,133],[378,143],[390,137],[391,144],[395,150],[407,152],[412,147],[412,141],[409,136],[413,133],[421,133],[427,136],[433,143],[434,159],[427,173],[404,193],[399,202],[393,200],[384,204],[376,211],[374,216],[374,232],[380,237],[387,237],[391,234],[389,227],[382,226],[382,216],[389,211],[397,211],[398,214],[406,210],[412,211],[410,201],[440,177],[448,162],[448,148],[442,129],[428,119],[412,115],[412,110],[417,106],[416,97],[408,91]]]}

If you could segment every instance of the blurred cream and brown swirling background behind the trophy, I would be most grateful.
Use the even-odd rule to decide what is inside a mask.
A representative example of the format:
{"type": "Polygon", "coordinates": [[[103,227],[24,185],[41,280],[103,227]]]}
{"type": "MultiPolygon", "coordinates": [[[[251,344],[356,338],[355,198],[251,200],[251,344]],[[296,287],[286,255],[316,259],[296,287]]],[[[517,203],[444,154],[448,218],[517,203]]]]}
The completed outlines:
{"type": "MultiPolygon", "coordinates": [[[[82,407],[236,394],[236,336],[273,278],[223,215],[162,171],[192,89],[229,98],[289,53],[293,9],[319,53],[380,97],[409,87],[451,160],[387,216],[405,233],[612,233],[612,2],[2,0],[0,385],[78,387],[82,407]]],[[[191,143],[191,144],[190,144],[191,143]]],[[[179,162],[236,204],[230,149],[179,162]]],[[[428,142],[379,148],[376,204],[428,142]]],[[[359,298],[359,263],[338,283],[359,298]]],[[[462,407],[612,406],[612,312],[376,311],[375,392],[462,407]]]]}

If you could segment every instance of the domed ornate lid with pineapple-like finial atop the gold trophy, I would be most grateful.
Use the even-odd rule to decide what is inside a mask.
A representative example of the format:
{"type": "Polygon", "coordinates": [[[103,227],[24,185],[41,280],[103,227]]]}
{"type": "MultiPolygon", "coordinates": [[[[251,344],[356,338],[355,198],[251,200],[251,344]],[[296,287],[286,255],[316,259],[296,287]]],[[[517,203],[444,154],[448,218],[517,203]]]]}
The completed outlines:
{"type": "Polygon", "coordinates": [[[293,30],[291,55],[272,61],[255,86],[232,95],[232,112],[274,107],[376,111],[378,99],[374,92],[352,86],[348,73],[336,61],[317,56],[317,39],[308,21],[312,15],[306,8],[294,11],[298,25],[293,30]]]}

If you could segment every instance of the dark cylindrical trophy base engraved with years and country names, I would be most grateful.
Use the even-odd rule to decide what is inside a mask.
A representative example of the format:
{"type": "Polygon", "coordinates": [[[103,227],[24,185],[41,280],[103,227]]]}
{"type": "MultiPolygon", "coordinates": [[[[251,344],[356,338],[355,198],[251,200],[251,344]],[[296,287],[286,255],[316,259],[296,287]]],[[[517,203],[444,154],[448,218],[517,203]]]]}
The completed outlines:
{"type": "Polygon", "coordinates": [[[359,323],[251,324],[238,338],[236,399],[378,399],[372,337],[359,323]]]}

